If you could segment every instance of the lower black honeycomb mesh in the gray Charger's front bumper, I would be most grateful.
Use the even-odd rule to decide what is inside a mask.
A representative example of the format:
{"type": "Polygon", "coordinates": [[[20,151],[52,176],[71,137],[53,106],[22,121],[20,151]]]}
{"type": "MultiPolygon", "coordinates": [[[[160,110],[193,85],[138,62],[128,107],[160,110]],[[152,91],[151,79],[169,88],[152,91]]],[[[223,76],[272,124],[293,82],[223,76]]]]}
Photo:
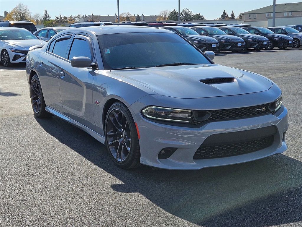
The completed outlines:
{"type": "Polygon", "coordinates": [[[247,154],[264,149],[272,145],[274,136],[240,143],[223,144],[217,146],[200,146],[193,159],[209,159],[247,154]]]}

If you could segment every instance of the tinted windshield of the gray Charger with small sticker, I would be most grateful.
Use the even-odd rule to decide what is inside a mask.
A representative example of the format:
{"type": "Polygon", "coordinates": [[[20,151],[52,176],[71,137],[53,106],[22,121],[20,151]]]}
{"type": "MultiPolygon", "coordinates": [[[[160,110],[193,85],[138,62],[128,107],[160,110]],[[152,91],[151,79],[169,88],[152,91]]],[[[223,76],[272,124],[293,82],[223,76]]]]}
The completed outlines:
{"type": "Polygon", "coordinates": [[[211,64],[176,33],[136,32],[98,35],[105,70],[164,64],[211,64]]]}

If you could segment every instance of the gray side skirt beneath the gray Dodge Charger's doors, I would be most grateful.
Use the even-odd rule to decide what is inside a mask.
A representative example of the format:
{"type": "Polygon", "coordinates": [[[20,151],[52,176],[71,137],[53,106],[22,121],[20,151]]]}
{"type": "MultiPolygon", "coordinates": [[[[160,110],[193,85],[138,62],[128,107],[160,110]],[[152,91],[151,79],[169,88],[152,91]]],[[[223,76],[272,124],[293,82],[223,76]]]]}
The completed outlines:
{"type": "Polygon", "coordinates": [[[91,130],[90,128],[86,127],[85,125],[82,125],[81,123],[71,119],[70,117],[67,117],[66,115],[64,115],[63,113],[60,113],[56,110],[54,110],[51,107],[46,106],[45,110],[47,112],[52,113],[53,115],[67,121],[68,123],[73,124],[74,126],[82,129],[83,131],[85,131],[86,133],[88,133],[89,135],[91,135],[93,138],[95,138],[96,140],[98,140],[99,142],[105,144],[105,137],[101,136],[100,134],[96,133],[95,131],[91,130]]]}

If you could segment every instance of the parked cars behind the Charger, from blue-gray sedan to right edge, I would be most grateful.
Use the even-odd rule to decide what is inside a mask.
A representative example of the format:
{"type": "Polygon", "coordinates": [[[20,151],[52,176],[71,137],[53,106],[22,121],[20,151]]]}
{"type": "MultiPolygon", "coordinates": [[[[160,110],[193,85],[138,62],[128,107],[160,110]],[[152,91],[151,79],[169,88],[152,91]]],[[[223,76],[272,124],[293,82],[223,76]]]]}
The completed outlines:
{"type": "MultiPolygon", "coordinates": [[[[201,24],[201,23],[170,23],[170,22],[104,22],[104,21],[85,21],[76,22],[69,27],[88,27],[101,25],[137,25],[163,28],[174,31],[192,44],[197,46],[201,51],[247,51],[255,49],[271,50],[278,47],[283,50],[287,47],[299,48],[302,44],[302,34],[297,29],[302,31],[302,25],[291,25],[281,27],[252,27],[248,24],[201,24]],[[202,35],[202,36],[201,36],[202,35]]],[[[58,32],[64,28],[48,28],[40,29],[35,35],[41,39],[48,41],[53,36],[54,32],[58,32]],[[48,31],[47,31],[48,30],[48,31]]],[[[67,29],[67,28],[65,28],[67,29]]]]}

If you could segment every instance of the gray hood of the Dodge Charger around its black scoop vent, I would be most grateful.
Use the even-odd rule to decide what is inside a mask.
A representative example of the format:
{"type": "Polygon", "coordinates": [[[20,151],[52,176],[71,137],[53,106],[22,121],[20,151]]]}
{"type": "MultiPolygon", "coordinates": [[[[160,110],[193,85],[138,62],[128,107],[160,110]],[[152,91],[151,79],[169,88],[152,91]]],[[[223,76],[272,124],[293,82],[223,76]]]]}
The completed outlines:
{"type": "Polygon", "coordinates": [[[112,70],[121,81],[140,83],[159,95],[203,98],[248,94],[268,90],[273,82],[249,71],[219,64],[112,70]],[[205,79],[234,78],[233,82],[206,84],[205,79]]]}

